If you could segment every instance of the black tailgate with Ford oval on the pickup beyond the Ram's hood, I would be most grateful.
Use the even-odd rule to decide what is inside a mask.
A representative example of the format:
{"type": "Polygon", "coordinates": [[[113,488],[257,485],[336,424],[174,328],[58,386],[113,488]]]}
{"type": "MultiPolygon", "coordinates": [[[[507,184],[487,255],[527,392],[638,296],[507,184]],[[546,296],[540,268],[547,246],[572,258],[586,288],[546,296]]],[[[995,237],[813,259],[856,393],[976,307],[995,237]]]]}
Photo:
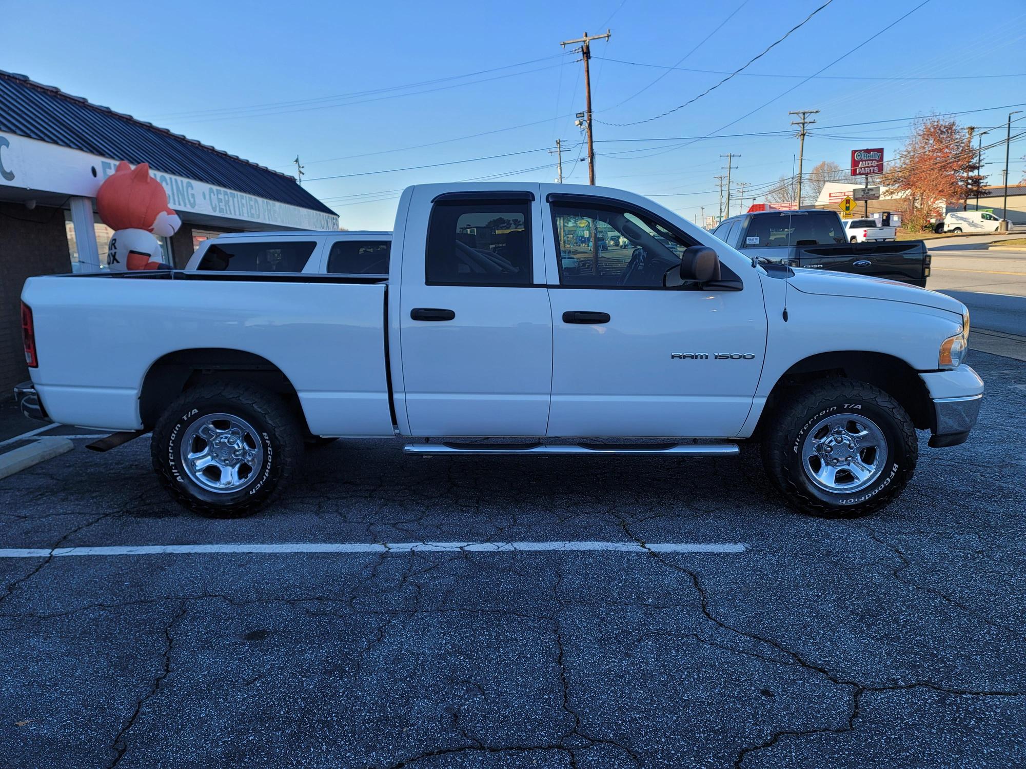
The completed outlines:
{"type": "Polygon", "coordinates": [[[930,276],[930,254],[921,240],[801,246],[794,249],[791,264],[920,286],[930,276]]]}

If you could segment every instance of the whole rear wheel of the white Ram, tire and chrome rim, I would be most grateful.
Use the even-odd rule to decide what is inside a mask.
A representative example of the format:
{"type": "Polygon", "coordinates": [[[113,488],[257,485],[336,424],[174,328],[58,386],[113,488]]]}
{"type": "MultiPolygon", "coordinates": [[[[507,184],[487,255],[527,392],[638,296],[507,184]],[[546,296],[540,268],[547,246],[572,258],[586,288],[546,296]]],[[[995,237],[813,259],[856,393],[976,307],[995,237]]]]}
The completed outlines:
{"type": "Polygon", "coordinates": [[[153,429],[153,469],[170,495],[209,518],[241,518],[292,477],[303,436],[285,403],[245,382],[187,390],[153,429]]]}

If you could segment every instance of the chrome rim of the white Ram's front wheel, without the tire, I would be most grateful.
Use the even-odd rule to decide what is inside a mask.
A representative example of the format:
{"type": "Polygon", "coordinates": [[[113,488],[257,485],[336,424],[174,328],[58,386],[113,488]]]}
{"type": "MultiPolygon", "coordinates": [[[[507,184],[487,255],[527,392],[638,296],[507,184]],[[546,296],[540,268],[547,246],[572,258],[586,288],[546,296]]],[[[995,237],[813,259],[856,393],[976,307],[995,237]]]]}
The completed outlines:
{"type": "Polygon", "coordinates": [[[861,491],[883,475],[886,463],[883,431],[862,414],[838,413],[821,419],[801,447],[808,480],[833,494],[861,491]]]}

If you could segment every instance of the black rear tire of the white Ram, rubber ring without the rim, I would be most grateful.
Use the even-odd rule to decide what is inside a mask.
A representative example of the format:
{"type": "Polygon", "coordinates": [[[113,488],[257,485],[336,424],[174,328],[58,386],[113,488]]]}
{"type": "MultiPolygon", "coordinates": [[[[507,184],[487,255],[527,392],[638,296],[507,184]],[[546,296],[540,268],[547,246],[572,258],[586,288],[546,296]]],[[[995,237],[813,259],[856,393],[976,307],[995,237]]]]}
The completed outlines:
{"type": "Polygon", "coordinates": [[[168,478],[183,493],[202,501],[211,508],[229,509],[239,504],[249,504],[258,502],[269,495],[277,485],[281,476],[280,462],[278,457],[281,454],[281,446],[274,431],[270,430],[266,420],[261,414],[244,405],[234,401],[207,401],[201,406],[190,406],[174,417],[174,421],[167,420],[163,426],[160,438],[160,458],[165,466],[168,478]],[[208,414],[226,413],[240,416],[245,419],[256,431],[256,438],[264,451],[264,464],[260,474],[252,481],[241,489],[230,493],[219,493],[204,489],[193,481],[185,468],[182,467],[182,439],[188,432],[190,424],[202,419],[208,414]]]}

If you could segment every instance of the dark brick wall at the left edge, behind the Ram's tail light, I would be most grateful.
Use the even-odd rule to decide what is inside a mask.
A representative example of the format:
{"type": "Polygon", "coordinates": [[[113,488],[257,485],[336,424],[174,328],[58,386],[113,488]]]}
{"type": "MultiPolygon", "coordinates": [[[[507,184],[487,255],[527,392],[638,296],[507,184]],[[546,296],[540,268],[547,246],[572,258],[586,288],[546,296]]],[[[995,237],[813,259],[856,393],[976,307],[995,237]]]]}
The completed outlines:
{"type": "Polygon", "coordinates": [[[0,203],[0,398],[29,378],[22,346],[21,295],[26,278],[70,273],[61,208],[0,203]]]}

